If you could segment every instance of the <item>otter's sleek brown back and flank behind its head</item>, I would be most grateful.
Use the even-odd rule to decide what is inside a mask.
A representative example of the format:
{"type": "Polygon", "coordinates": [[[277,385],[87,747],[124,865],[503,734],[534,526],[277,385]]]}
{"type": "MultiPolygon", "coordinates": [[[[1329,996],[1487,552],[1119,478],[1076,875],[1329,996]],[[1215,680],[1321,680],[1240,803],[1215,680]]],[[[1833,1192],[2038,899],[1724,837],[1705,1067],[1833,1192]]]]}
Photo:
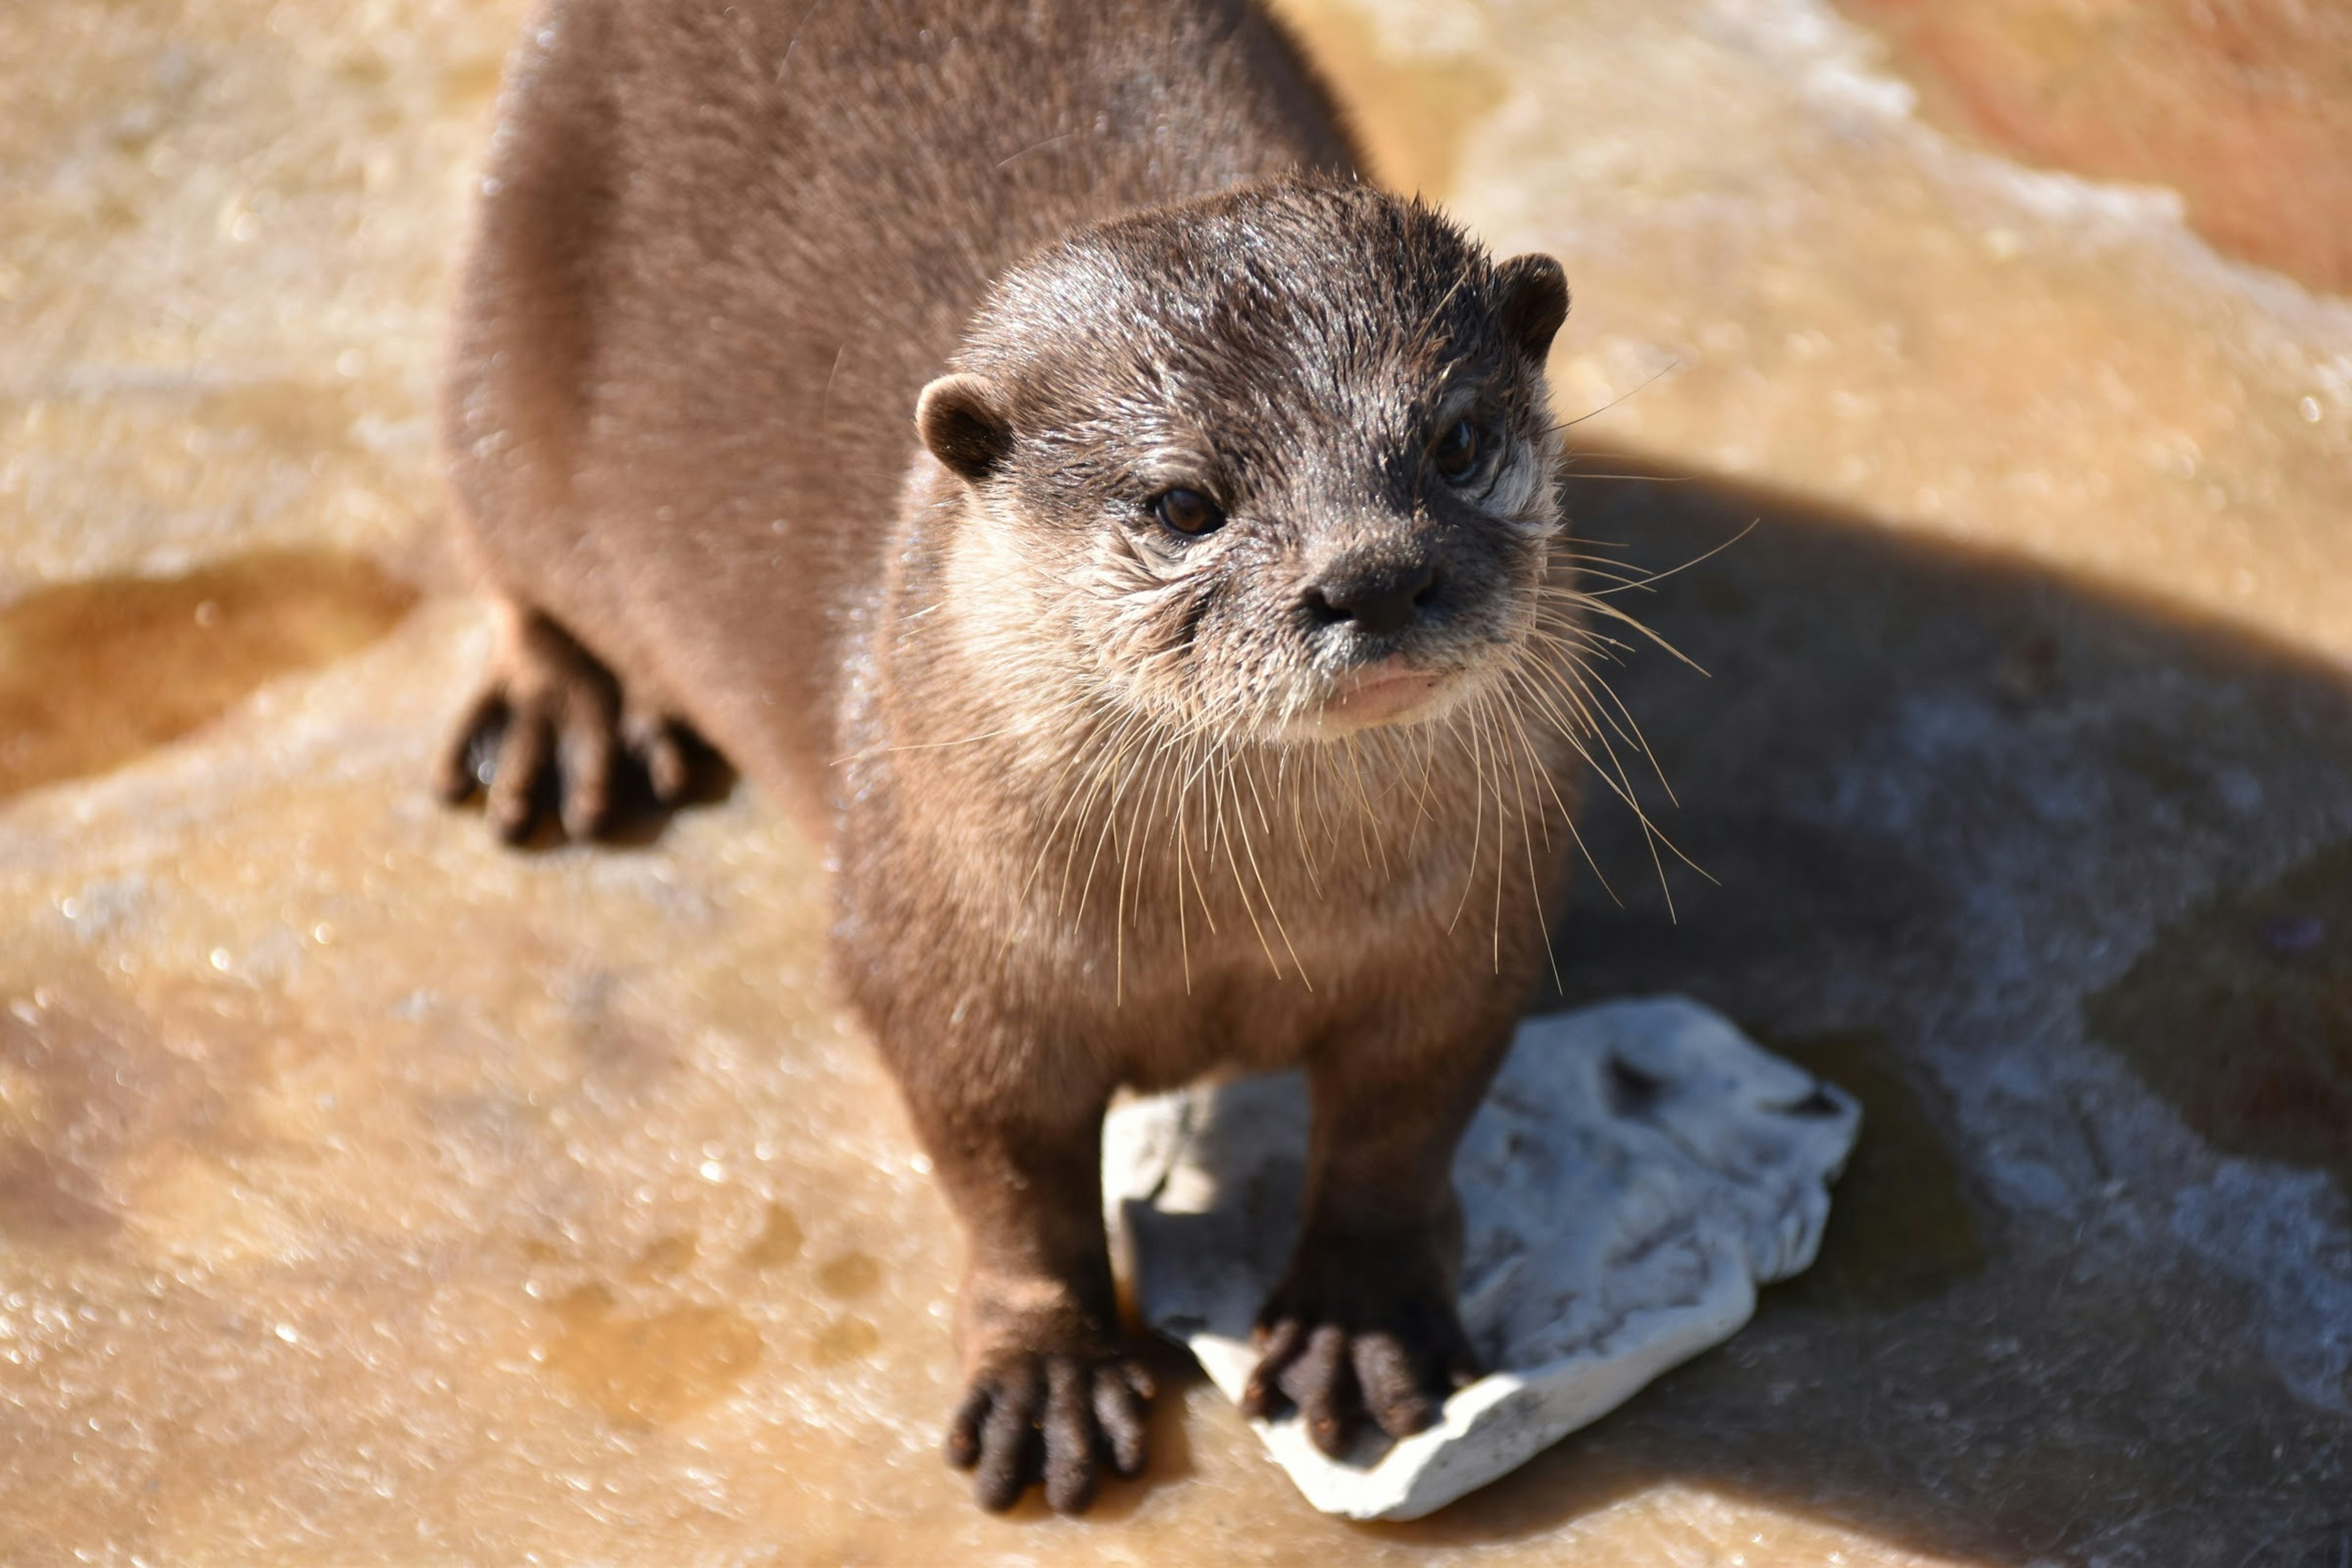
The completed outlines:
{"type": "Polygon", "coordinates": [[[1068,230],[1294,167],[1327,99],[1221,0],[555,0],[449,428],[501,585],[809,809],[913,407],[1068,230]]]}

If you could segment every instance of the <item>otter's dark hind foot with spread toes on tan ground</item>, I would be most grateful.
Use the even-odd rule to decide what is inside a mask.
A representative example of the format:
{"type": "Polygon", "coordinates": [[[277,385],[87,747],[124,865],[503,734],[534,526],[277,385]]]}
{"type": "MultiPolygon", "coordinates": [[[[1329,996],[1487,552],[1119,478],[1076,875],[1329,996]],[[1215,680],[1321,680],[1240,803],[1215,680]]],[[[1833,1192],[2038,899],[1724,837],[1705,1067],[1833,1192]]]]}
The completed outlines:
{"type": "Polygon", "coordinates": [[[435,788],[459,804],[485,797],[489,825],[522,844],[553,811],[583,842],[644,795],[677,806],[699,738],[680,719],[623,701],[621,682],[539,611],[508,609],[492,677],[442,752],[435,788]]]}

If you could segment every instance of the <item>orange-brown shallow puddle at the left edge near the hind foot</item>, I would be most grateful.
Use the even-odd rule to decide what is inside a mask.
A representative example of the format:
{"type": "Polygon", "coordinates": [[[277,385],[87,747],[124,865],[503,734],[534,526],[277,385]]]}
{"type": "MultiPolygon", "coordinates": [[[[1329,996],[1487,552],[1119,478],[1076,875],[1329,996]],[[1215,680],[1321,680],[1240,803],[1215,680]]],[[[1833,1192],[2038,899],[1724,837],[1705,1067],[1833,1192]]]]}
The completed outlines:
{"type": "Polygon", "coordinates": [[[268,679],[383,637],[416,592],[325,550],[96,578],[0,609],[0,797],[118,769],[268,679]]]}

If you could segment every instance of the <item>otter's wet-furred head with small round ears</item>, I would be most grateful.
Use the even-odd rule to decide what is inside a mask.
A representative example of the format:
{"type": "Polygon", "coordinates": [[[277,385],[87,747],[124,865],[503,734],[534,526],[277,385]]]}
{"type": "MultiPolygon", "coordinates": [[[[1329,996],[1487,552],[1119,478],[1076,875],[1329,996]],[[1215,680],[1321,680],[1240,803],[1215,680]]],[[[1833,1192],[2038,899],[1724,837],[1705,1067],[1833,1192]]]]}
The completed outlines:
{"type": "Polygon", "coordinates": [[[969,487],[990,592],[1091,701],[1343,736],[1451,712],[1531,635],[1566,308],[1550,256],[1279,181],[1009,273],[917,423],[969,487]]]}

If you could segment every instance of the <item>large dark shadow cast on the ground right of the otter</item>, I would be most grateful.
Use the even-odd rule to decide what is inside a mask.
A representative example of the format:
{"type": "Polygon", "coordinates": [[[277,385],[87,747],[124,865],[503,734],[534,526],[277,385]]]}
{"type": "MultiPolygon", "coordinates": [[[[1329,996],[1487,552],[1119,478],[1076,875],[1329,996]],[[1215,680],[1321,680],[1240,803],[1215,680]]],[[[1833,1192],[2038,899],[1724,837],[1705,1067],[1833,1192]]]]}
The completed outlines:
{"type": "Polygon", "coordinates": [[[1785,496],[1573,501],[1649,569],[1757,529],[1616,595],[1710,672],[1613,682],[1679,806],[1639,797],[1715,882],[1668,858],[1670,919],[1595,790],[1625,907],[1583,877],[1550,1004],[1698,997],[1853,1088],[1863,1147],[1750,1331],[1385,1533],[1693,1481],[2004,1563],[2352,1561],[2340,1194],[2227,1265],[2180,1218],[2223,1157],[2305,1197],[2352,1168],[2345,672],[1785,496]]]}

